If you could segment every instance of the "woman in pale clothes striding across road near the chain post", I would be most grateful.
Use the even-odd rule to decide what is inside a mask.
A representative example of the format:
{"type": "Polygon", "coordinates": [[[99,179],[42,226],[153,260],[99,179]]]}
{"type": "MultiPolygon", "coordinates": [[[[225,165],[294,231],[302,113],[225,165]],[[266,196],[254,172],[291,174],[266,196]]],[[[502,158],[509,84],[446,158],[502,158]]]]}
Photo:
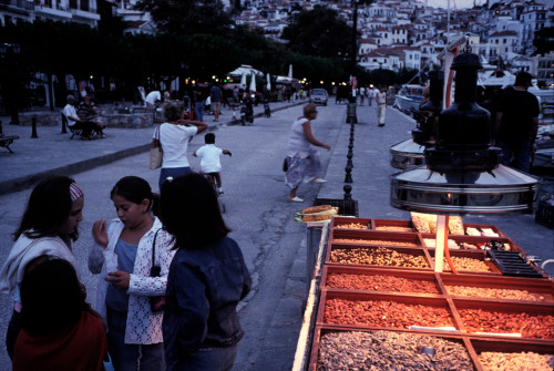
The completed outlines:
{"type": "Polygon", "coordinates": [[[294,203],[302,203],[304,199],[296,195],[301,183],[325,183],[327,181],[319,178],[321,173],[321,163],[319,153],[311,145],[329,151],[330,145],[319,142],[311,132],[311,121],[317,117],[317,106],[308,103],[304,106],[304,115],[298,117],[290,128],[290,136],[287,145],[287,173],[285,184],[291,189],[288,199],[294,203]]]}

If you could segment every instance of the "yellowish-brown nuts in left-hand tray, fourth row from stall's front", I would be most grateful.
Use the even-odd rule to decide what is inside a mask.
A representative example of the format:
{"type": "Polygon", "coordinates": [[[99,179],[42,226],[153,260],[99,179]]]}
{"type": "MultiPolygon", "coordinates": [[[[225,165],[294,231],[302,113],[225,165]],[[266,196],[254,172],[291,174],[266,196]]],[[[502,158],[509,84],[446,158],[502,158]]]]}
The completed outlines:
{"type": "Polygon", "coordinates": [[[386,247],[331,249],[332,262],[363,264],[391,267],[429,268],[423,256],[398,253],[386,247]]]}

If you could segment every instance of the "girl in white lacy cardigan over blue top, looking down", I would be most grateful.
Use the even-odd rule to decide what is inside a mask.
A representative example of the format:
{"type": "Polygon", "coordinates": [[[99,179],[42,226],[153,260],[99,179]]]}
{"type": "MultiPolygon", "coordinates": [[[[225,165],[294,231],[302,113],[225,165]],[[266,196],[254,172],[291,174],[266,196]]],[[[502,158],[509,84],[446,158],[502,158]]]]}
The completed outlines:
{"type": "Polygon", "coordinates": [[[121,178],[110,198],[119,218],[94,223],[89,254],[90,271],[101,275],[95,308],[107,323],[110,355],[115,371],[165,370],[163,312],[151,310],[150,297],[165,293],[172,236],[152,214],[156,198],[143,178],[121,178]],[[151,277],[154,265],[158,277],[151,277]]]}

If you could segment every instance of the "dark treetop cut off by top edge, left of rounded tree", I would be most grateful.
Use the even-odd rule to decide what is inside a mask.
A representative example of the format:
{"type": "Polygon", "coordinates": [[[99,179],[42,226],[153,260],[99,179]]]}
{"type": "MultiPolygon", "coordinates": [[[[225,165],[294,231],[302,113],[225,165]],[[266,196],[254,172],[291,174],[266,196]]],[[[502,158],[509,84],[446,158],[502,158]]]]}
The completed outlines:
{"type": "Polygon", "coordinates": [[[220,0],[141,0],[135,8],[148,11],[160,31],[174,34],[224,35],[233,24],[220,0]]]}

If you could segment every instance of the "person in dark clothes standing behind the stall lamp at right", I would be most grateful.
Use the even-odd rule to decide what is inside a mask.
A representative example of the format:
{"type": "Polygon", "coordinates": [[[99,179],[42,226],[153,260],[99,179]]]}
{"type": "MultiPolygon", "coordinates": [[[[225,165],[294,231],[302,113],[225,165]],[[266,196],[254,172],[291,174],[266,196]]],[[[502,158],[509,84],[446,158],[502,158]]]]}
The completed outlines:
{"type": "Polygon", "coordinates": [[[529,173],[538,130],[538,100],[527,92],[532,76],[520,72],[513,89],[501,94],[493,130],[493,142],[502,148],[502,164],[529,173]]]}

